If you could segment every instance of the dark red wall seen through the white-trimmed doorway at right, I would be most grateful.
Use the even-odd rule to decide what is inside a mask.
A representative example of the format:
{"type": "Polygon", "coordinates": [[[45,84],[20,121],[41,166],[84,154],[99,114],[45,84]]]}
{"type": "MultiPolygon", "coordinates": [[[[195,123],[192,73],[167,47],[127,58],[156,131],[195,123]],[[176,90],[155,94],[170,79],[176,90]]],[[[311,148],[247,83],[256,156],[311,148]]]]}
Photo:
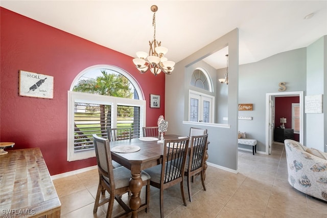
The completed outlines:
{"type": "MultiPolygon", "coordinates": [[[[286,118],[285,128],[292,128],[292,103],[300,103],[298,96],[275,98],[275,126],[282,125],[279,118],[286,118]]],[[[294,140],[299,141],[299,134],[294,134],[294,140]]]]}

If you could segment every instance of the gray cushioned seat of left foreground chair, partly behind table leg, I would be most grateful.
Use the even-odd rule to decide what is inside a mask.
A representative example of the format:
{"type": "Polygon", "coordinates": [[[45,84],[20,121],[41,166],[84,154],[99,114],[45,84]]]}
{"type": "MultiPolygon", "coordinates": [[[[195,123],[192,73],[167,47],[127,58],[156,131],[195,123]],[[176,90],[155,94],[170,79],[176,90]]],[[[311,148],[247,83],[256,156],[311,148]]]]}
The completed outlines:
{"type": "MultiPolygon", "coordinates": [[[[115,188],[123,188],[129,186],[129,179],[131,178],[131,171],[124,166],[113,169],[113,178],[115,188]]],[[[145,171],[141,172],[142,181],[149,180],[151,177],[145,171]]],[[[109,183],[109,179],[104,177],[105,181],[109,183]]]]}

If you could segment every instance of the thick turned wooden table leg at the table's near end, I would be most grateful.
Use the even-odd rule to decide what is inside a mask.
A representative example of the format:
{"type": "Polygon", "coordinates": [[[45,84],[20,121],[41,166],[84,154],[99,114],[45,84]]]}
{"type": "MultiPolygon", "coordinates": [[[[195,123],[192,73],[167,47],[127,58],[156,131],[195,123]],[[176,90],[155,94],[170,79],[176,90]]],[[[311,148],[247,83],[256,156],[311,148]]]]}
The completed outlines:
{"type": "Polygon", "coordinates": [[[129,180],[129,189],[132,192],[132,197],[129,200],[129,207],[132,210],[131,217],[138,217],[137,210],[141,206],[141,198],[139,197],[139,194],[141,193],[142,184],[141,171],[139,173],[132,173],[132,177],[129,180]]]}

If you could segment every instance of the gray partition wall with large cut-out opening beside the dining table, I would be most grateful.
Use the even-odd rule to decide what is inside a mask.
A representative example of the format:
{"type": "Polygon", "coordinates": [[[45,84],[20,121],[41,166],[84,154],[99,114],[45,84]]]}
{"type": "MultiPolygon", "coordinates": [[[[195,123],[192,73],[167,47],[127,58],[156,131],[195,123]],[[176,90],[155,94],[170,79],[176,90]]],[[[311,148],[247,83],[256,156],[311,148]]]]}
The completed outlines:
{"type": "MultiPolygon", "coordinates": [[[[168,121],[169,134],[189,135],[190,127],[208,129],[208,162],[226,169],[237,170],[237,132],[238,132],[238,72],[239,72],[239,32],[232,30],[203,49],[176,63],[172,75],[166,76],[165,119],[168,121]],[[229,75],[228,85],[228,124],[207,125],[205,123],[183,124],[187,119],[190,74],[187,70],[194,63],[228,46],[229,75]],[[185,106],[186,105],[186,106],[185,106]]],[[[213,75],[214,88],[217,76],[213,75]]],[[[221,85],[219,83],[219,85],[221,85]]],[[[216,92],[216,90],[214,90],[216,92]]]]}

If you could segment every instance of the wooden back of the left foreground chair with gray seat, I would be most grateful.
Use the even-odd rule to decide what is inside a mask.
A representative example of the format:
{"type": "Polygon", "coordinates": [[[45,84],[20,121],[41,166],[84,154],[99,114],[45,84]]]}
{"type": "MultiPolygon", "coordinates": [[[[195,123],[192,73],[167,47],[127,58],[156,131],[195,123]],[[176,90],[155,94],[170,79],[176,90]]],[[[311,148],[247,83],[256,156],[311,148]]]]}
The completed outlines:
{"type": "Polygon", "coordinates": [[[115,188],[109,140],[93,135],[97,164],[100,177],[108,178],[110,187],[115,188]]]}

